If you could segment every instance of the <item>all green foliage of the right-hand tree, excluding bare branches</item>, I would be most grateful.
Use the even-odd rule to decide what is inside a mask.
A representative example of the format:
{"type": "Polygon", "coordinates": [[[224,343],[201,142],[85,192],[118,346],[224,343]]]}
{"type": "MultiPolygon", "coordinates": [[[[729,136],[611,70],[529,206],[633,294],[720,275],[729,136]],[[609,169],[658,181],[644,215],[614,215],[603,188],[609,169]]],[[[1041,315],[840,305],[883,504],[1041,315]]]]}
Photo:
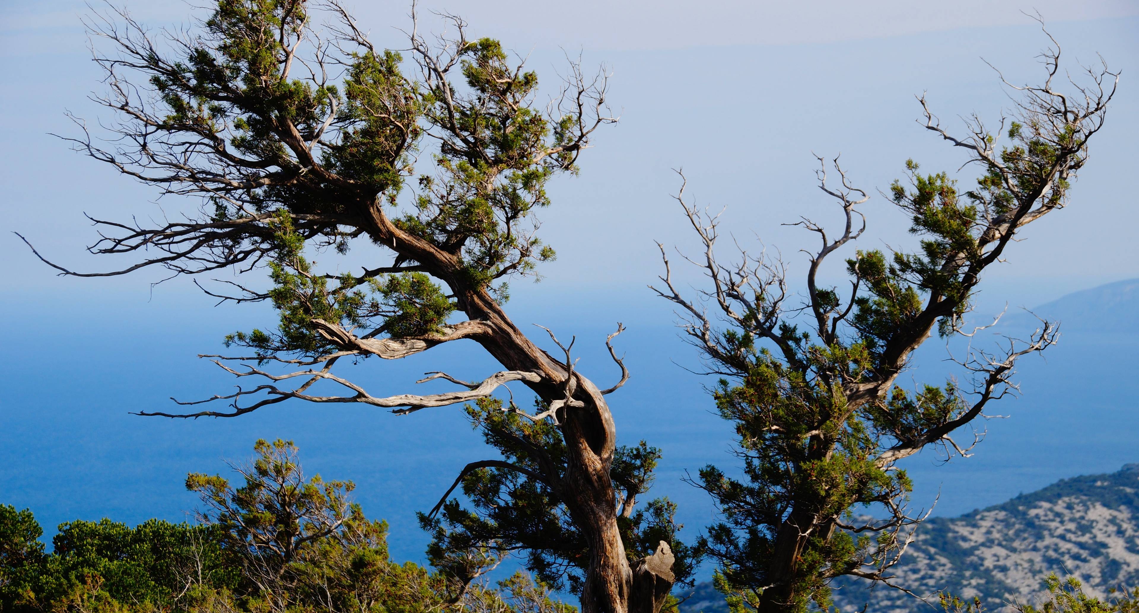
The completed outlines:
{"type": "MultiPolygon", "coordinates": [[[[755,586],[778,577],[780,598],[789,598],[782,606],[805,611],[814,602],[826,607],[834,577],[886,563],[898,548],[896,532],[857,536],[837,523],[869,505],[904,506],[909,478],[880,463],[879,454],[919,440],[967,408],[952,382],[917,394],[893,387],[882,401],[851,406],[847,400],[859,384],[893,380],[899,343],[928,325],[928,305],[939,305],[941,333],[954,331],[976,283],[984,227],[978,208],[961,202],[944,173],[920,175],[912,160],[907,169],[911,187],[895,182],[892,194],[911,215],[910,232],[923,237],[920,248],[890,258],[859,250],[847,260],[862,291],[853,298],[845,336],[836,332],[845,315],[837,291],[821,289],[812,297],[823,322],[816,334],[784,322],[771,334],[779,348],[772,354],[756,347],[754,333],[729,330],[721,337],[723,349],[712,356],[736,375],[721,380],[714,398],[721,416],[736,424],[744,479],[715,466],[699,472],[697,484],[724,517],[710,527],[699,547],[721,564],[720,585],[741,598],[740,606],[761,607],[763,590],[755,586]],[[786,546],[790,537],[785,532],[796,524],[814,528],[796,546],[793,571],[782,575],[787,568],[773,566],[777,548],[786,546]]],[[[756,323],[761,315],[753,316],[756,323]]],[[[906,353],[901,356],[904,361],[906,353]]]]}

